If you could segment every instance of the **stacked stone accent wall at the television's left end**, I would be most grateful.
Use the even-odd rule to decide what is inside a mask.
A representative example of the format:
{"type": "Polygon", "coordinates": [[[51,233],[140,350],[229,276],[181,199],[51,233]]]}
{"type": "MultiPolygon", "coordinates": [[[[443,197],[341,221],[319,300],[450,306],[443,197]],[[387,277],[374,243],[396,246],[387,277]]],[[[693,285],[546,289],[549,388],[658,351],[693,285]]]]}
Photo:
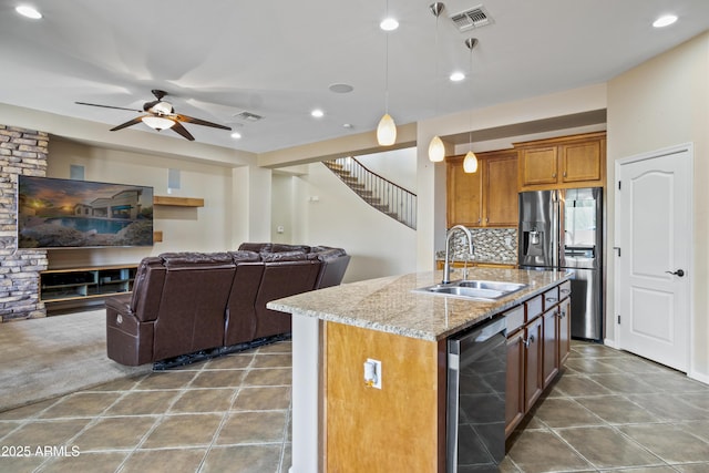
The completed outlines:
{"type": "Polygon", "coordinates": [[[49,135],[0,125],[0,321],[45,317],[39,271],[47,250],[17,249],[19,175],[45,176],[49,135]]]}

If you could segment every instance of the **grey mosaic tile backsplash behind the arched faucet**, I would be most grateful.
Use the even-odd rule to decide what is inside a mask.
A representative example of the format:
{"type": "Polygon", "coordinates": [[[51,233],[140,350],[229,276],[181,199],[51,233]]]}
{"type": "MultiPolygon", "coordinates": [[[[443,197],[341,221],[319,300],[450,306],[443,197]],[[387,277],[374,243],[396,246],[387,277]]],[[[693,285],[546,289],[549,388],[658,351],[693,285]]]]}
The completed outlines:
{"type": "MultiPolygon", "coordinates": [[[[516,228],[469,228],[473,235],[475,261],[517,263],[517,229],[516,228]]],[[[467,241],[462,232],[453,235],[451,247],[453,259],[464,260],[467,257],[467,241]]],[[[436,251],[438,259],[443,259],[445,248],[436,251]]]]}

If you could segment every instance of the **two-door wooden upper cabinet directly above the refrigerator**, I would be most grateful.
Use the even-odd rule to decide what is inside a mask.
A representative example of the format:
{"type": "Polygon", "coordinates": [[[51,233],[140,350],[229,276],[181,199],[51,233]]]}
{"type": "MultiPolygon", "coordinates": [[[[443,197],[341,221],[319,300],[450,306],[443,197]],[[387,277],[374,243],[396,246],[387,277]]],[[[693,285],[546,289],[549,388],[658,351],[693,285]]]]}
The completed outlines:
{"type": "Polygon", "coordinates": [[[520,191],[603,186],[606,133],[516,143],[520,191]]]}

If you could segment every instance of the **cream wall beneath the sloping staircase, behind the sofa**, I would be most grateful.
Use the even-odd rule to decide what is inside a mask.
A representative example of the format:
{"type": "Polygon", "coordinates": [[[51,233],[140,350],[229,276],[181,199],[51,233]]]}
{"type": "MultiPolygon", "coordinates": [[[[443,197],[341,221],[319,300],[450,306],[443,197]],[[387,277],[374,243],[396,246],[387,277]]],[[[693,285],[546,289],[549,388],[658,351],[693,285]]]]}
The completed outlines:
{"type": "Polygon", "coordinates": [[[322,163],[292,179],[292,243],[345,248],[352,259],[343,282],[415,271],[414,230],[373,209],[322,163]]]}

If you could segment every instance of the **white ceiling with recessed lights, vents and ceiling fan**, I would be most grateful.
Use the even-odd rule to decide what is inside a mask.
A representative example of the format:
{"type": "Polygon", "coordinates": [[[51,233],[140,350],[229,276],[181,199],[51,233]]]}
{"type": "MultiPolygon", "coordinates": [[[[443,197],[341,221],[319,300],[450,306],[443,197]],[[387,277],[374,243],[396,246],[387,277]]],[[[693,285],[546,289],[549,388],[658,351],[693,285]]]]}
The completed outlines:
{"type": "Polygon", "coordinates": [[[41,20],[19,17],[22,1],[0,0],[0,103],[110,128],[137,113],[74,102],[137,110],[162,89],[242,135],[185,124],[197,142],[254,153],[373,131],[387,90],[411,123],[602,83],[709,28],[707,0],[450,0],[438,21],[428,0],[27,0],[41,20]],[[449,17],[480,4],[492,24],[460,32],[449,17]],[[651,27],[668,12],[674,25],[651,27]],[[454,70],[472,73],[453,83],[454,70]]]}

